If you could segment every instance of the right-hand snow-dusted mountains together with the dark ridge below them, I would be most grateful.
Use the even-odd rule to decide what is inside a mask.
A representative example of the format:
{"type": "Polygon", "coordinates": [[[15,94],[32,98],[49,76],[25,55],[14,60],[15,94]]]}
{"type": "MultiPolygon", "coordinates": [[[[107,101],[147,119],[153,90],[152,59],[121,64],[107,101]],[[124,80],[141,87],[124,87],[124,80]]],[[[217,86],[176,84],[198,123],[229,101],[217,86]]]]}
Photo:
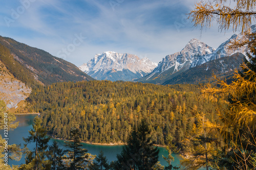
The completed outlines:
{"type": "MultiPolygon", "coordinates": [[[[251,27],[252,32],[256,31],[255,26],[251,27]]],[[[223,74],[223,70],[229,71],[239,68],[244,58],[246,47],[237,48],[236,51],[228,50],[228,46],[234,40],[243,38],[243,34],[234,34],[227,41],[223,42],[217,50],[201,42],[198,39],[191,39],[178,53],[167,55],[158,66],[148,75],[136,81],[154,84],[177,84],[177,83],[198,83],[209,78],[209,72],[223,74]],[[238,54],[237,58],[230,58],[238,54]],[[224,57],[228,57],[225,58],[224,57]],[[219,60],[223,58],[223,60],[219,60]],[[211,62],[216,60],[216,62],[211,62]],[[233,63],[230,65],[226,61],[233,63]],[[222,62],[223,64],[221,64],[222,62]],[[205,65],[202,65],[206,63],[205,65]],[[213,65],[210,65],[213,64],[213,65]],[[227,65],[226,65],[227,64],[227,65]],[[208,65],[208,69],[201,69],[208,65]],[[217,67],[218,65],[218,67],[217,67]],[[194,76],[192,76],[194,75],[194,76]],[[198,77],[201,75],[201,77],[198,77]]]]}

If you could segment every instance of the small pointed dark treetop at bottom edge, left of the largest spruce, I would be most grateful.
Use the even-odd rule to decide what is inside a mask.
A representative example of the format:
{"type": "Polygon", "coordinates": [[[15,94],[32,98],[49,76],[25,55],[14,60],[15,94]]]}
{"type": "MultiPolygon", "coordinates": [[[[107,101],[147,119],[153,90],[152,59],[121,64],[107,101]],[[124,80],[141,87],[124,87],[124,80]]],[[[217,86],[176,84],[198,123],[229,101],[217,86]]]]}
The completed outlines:
{"type": "Polygon", "coordinates": [[[91,170],[108,170],[110,169],[110,165],[108,160],[104,156],[104,153],[100,151],[99,155],[95,158],[94,163],[90,166],[91,170]]]}

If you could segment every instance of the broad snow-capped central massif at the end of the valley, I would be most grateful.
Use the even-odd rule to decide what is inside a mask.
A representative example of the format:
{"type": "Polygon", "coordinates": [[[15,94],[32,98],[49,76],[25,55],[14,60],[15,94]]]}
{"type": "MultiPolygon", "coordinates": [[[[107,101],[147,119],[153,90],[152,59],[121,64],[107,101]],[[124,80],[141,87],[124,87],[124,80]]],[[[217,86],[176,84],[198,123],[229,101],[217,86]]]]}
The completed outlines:
{"type": "Polygon", "coordinates": [[[136,55],[103,52],[79,66],[79,69],[97,80],[131,81],[147,75],[156,66],[149,59],[140,59],[136,55]]]}

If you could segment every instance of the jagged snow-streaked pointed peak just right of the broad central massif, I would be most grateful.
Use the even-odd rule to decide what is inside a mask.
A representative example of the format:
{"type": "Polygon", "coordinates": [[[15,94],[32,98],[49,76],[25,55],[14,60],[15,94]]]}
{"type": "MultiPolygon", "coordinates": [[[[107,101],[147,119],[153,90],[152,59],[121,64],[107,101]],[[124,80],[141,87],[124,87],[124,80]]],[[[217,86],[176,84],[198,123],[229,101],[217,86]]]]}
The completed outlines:
{"type": "Polygon", "coordinates": [[[150,74],[138,81],[162,84],[190,67],[195,67],[209,61],[209,58],[206,56],[209,56],[214,51],[214,48],[198,39],[191,39],[180,52],[167,55],[150,74]]]}

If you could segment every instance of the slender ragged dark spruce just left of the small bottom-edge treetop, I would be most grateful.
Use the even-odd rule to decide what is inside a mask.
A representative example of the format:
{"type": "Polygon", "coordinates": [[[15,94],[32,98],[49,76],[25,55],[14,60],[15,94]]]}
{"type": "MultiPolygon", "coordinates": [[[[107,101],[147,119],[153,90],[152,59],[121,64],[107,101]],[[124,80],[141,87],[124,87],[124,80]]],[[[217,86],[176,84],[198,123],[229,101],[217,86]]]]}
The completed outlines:
{"type": "Polygon", "coordinates": [[[67,169],[77,170],[84,169],[84,163],[88,160],[87,149],[82,149],[81,140],[80,140],[80,131],[77,128],[71,128],[70,131],[70,140],[66,142],[66,147],[70,148],[69,150],[65,150],[67,154],[66,160],[69,160],[69,167],[67,169]]]}

